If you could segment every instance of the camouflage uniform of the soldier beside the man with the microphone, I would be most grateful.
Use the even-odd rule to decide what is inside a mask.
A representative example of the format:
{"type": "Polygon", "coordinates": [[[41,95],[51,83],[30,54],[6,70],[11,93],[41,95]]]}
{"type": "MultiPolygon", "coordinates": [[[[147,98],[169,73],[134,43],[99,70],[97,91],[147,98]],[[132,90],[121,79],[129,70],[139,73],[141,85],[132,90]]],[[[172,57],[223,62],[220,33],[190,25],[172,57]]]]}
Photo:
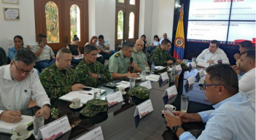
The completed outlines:
{"type": "Polygon", "coordinates": [[[87,63],[85,59],[83,59],[77,65],[75,71],[78,74],[81,84],[87,87],[96,88],[98,85],[109,82],[111,78],[109,71],[98,61],[95,63],[87,63]],[[89,72],[94,74],[101,74],[101,79],[93,78],[89,72]]]}

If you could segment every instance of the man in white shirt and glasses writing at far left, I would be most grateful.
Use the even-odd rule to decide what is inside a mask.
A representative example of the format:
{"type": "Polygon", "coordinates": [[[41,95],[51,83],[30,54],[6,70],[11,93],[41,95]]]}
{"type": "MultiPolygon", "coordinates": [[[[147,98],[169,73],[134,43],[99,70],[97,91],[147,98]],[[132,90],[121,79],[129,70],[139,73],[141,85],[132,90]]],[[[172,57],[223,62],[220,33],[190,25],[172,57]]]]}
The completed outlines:
{"type": "Polygon", "coordinates": [[[50,117],[50,98],[33,68],[35,63],[31,50],[18,50],[9,65],[0,67],[0,120],[8,123],[22,120],[20,110],[28,109],[31,98],[42,108],[36,114],[44,114],[45,119],[50,117]]]}

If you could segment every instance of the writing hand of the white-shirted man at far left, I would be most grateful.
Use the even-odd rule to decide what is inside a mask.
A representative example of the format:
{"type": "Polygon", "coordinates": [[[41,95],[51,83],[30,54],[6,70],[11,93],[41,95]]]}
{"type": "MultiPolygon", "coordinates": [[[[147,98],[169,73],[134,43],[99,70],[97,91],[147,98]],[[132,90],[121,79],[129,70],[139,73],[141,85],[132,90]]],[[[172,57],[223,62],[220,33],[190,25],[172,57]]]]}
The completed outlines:
{"type": "Polygon", "coordinates": [[[0,119],[4,120],[4,122],[7,122],[7,123],[20,122],[20,120],[22,120],[21,112],[4,111],[4,112],[1,112],[0,119]]]}

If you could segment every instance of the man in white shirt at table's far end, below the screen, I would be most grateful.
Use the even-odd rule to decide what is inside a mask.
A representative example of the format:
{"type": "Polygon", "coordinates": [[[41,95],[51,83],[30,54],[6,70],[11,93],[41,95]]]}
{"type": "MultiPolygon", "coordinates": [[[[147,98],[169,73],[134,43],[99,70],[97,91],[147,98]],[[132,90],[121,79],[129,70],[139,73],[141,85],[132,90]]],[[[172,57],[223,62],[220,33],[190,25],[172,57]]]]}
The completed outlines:
{"type": "Polygon", "coordinates": [[[196,58],[196,61],[217,64],[218,61],[221,60],[222,63],[229,64],[227,55],[219,47],[220,43],[217,40],[212,40],[210,42],[209,48],[203,50],[203,52],[198,55],[198,58],[196,58]]]}

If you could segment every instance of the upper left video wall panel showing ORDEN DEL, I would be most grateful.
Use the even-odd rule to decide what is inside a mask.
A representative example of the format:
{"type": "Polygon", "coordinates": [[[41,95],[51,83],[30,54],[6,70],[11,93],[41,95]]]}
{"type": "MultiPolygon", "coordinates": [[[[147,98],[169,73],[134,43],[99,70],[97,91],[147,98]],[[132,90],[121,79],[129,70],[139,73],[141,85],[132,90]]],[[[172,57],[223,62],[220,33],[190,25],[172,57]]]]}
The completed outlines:
{"type": "Polygon", "coordinates": [[[190,0],[188,20],[229,20],[230,4],[230,0],[190,0]]]}

